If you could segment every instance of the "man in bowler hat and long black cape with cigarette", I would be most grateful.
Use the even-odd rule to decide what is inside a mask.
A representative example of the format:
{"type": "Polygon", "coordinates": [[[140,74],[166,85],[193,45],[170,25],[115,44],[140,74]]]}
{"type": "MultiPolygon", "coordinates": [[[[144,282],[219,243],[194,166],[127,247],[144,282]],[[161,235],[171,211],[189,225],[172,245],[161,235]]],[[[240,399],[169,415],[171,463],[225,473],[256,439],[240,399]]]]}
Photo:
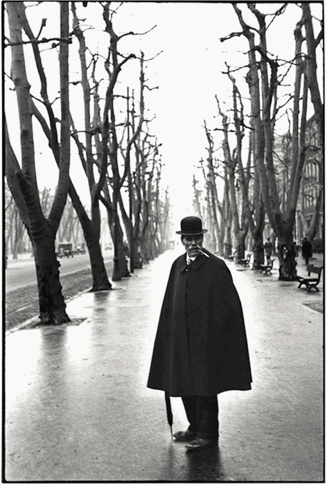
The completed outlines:
{"type": "Polygon", "coordinates": [[[202,247],[200,218],[182,219],[186,254],[171,268],[148,387],[182,397],[190,425],[174,434],[188,450],[218,442],[218,397],[251,389],[247,337],[238,292],[222,259],[202,247]]]}

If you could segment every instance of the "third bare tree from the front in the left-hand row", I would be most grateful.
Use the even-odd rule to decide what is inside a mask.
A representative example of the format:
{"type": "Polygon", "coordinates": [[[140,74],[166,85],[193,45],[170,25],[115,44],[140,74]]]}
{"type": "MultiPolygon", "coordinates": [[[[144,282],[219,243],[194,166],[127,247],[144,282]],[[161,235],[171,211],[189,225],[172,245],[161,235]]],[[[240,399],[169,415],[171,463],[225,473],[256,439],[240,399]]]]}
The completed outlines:
{"type": "MultiPolygon", "coordinates": [[[[105,3],[103,6],[103,19],[105,20],[105,31],[109,33],[110,44],[104,64],[108,76],[108,85],[105,93],[105,105],[103,109],[100,107],[100,96],[98,94],[99,82],[96,81],[95,77],[95,66],[98,62],[98,58],[94,56],[92,60],[93,69],[91,78],[93,80],[92,88],[94,99],[94,116],[91,127],[85,127],[85,132],[92,133],[94,146],[96,149],[96,157],[94,157],[91,152],[91,136],[88,137],[89,143],[86,143],[85,148],[80,143],[77,132],[74,133],[74,139],[76,140],[76,143],[78,143],[82,164],[85,167],[85,171],[89,179],[91,197],[96,197],[96,200],[101,200],[107,209],[109,229],[112,234],[112,240],[114,241],[114,273],[112,275],[112,279],[113,281],[118,281],[122,276],[129,276],[123,249],[123,230],[121,228],[121,222],[118,214],[118,204],[121,204],[121,188],[130,170],[130,149],[134,143],[137,133],[141,129],[142,120],[140,118],[139,126],[136,128],[136,132],[133,133],[131,139],[127,141],[127,147],[123,157],[125,164],[123,168],[123,175],[120,175],[118,161],[119,143],[116,130],[115,114],[116,95],[114,94],[114,88],[118,78],[118,73],[121,71],[123,65],[128,60],[135,58],[135,55],[130,54],[126,57],[119,53],[119,40],[124,37],[124,35],[132,35],[132,33],[123,34],[121,36],[116,35],[113,27],[112,15],[113,11],[110,10],[110,3],[105,3]],[[84,152],[87,154],[85,160],[83,159],[84,152]],[[93,172],[94,164],[96,164],[98,167],[99,173],[96,188],[93,172]]],[[[85,39],[81,29],[78,26],[76,13],[74,13],[74,19],[76,25],[75,31],[80,41],[80,58],[82,60],[81,69],[84,72],[84,80],[82,78],[82,84],[84,84],[83,91],[89,110],[90,87],[87,80],[87,64],[85,62],[85,39]]],[[[92,208],[94,208],[95,200],[92,199],[92,201],[92,208]]],[[[96,210],[98,211],[98,202],[96,202],[96,210]]]]}

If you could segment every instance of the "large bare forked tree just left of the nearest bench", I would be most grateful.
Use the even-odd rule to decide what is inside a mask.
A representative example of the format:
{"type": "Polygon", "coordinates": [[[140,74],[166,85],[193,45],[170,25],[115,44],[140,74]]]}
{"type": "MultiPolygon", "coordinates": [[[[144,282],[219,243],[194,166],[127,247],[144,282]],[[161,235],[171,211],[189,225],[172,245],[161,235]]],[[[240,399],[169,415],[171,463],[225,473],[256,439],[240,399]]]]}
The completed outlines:
{"type": "MultiPolygon", "coordinates": [[[[303,55],[301,54],[301,26],[304,21],[301,19],[295,31],[295,55],[294,62],[297,66],[294,84],[294,111],[293,127],[297,132],[297,119],[301,118],[299,141],[294,135],[292,142],[294,158],[292,161],[292,178],[290,185],[290,195],[285,206],[285,212],[282,213],[279,191],[276,182],[276,170],[274,167],[274,124],[276,113],[278,112],[277,87],[281,78],[278,76],[279,62],[269,57],[267,48],[267,23],[264,15],[256,4],[247,3],[249,10],[252,12],[258,28],[249,26],[243,19],[242,11],[236,4],[233,8],[238,16],[241,33],[233,33],[227,38],[235,35],[242,35],[247,39],[249,44],[249,71],[247,73],[247,84],[249,85],[249,94],[251,101],[251,127],[253,134],[254,163],[258,166],[258,175],[260,179],[260,193],[263,197],[263,204],[269,222],[279,238],[279,279],[294,280],[297,279],[295,250],[294,250],[294,220],[297,210],[297,200],[299,197],[299,181],[301,180],[303,161],[305,155],[305,133],[306,133],[306,109],[307,109],[307,78],[303,80],[303,89],[300,91],[301,78],[303,78],[303,55]],[[255,34],[258,33],[259,42],[256,44],[255,34]],[[258,55],[258,58],[257,58],[258,55]],[[301,94],[300,94],[301,92],[301,94]],[[299,100],[302,98],[301,114],[298,109],[299,100]],[[260,100],[262,100],[262,105],[260,100]],[[299,154],[297,155],[297,147],[299,154]]],[[[279,8],[274,14],[274,18],[283,14],[285,6],[279,8]]],[[[305,9],[306,10],[306,9],[305,9]]],[[[310,15],[309,15],[310,17],[310,15]]],[[[271,24],[271,23],[270,23],[271,24]]],[[[307,25],[309,23],[307,22],[307,25]]],[[[222,41],[227,38],[221,39],[222,41]]],[[[309,56],[310,57],[310,56],[309,56]]],[[[308,65],[308,64],[306,64],[308,65]]],[[[315,64],[310,62],[310,69],[317,72],[315,64]]],[[[304,69],[308,73],[308,67],[304,69]]],[[[311,76],[312,78],[312,76],[311,76]]],[[[315,80],[311,83],[312,92],[317,94],[315,80]]],[[[319,100],[317,100],[317,112],[319,111],[319,100]]]]}

